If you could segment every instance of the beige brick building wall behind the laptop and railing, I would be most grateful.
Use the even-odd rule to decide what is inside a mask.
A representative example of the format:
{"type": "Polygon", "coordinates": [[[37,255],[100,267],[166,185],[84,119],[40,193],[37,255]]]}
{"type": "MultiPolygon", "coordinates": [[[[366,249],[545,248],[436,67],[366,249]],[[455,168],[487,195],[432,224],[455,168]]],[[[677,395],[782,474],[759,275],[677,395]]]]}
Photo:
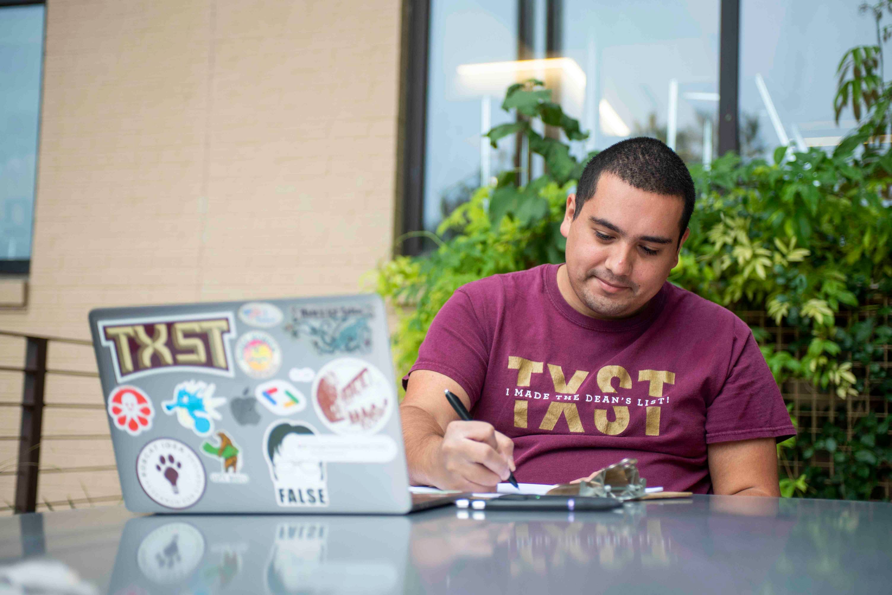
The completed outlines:
{"type": "MultiPolygon", "coordinates": [[[[0,330],[88,338],[97,306],[352,292],[387,257],[400,0],[47,4],[29,306],[0,330]]],[[[88,347],[50,356],[95,369],[88,347]]],[[[56,378],[47,401],[45,436],[88,438],[46,438],[38,500],[85,481],[111,498],[114,472],[89,470],[111,465],[98,382],[56,378]]],[[[0,408],[0,437],[18,415],[0,408]]],[[[12,485],[0,465],[4,501],[12,485]]]]}

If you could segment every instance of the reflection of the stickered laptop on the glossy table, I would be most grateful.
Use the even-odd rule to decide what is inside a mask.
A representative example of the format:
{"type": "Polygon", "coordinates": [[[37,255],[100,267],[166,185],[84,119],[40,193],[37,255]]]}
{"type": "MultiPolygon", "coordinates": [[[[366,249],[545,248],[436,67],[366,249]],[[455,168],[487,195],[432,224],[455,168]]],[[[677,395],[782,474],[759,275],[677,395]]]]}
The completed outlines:
{"type": "Polygon", "coordinates": [[[145,517],[128,521],[111,593],[401,591],[405,517],[145,517]]]}

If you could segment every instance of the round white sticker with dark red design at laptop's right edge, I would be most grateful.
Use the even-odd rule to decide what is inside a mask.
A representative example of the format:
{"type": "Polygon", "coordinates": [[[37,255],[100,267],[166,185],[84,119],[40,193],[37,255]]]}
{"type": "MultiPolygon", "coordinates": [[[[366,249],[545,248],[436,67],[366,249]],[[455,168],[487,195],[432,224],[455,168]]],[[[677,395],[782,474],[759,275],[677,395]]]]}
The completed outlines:
{"type": "Polygon", "coordinates": [[[374,434],[396,406],[393,387],[375,366],[355,357],[326,363],[313,380],[319,419],[338,434],[374,434]]]}

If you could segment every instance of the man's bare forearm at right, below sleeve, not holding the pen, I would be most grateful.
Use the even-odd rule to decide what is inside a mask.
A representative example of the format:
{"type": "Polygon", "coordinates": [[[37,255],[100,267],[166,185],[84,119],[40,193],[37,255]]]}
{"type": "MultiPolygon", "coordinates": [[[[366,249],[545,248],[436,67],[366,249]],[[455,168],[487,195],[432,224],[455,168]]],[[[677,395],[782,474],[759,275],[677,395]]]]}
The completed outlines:
{"type": "Polygon", "coordinates": [[[706,445],[713,493],[780,496],[774,438],[753,438],[706,445]]]}

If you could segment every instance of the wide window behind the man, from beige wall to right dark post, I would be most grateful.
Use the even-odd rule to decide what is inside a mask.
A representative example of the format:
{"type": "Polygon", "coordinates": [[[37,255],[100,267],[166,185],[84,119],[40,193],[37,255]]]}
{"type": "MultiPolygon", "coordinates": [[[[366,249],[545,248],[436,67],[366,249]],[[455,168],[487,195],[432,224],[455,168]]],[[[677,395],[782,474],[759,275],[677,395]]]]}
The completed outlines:
{"type": "Polygon", "coordinates": [[[522,181],[543,173],[541,157],[515,137],[497,149],[482,137],[515,120],[501,101],[509,85],[529,77],[545,81],[591,132],[571,143],[577,157],[637,135],[660,138],[689,163],[716,156],[720,0],[414,4],[428,11],[425,114],[407,118],[425,126],[424,151],[405,156],[423,162],[423,183],[403,188],[404,200],[420,205],[414,229],[435,231],[502,171],[515,168],[522,181]]]}

